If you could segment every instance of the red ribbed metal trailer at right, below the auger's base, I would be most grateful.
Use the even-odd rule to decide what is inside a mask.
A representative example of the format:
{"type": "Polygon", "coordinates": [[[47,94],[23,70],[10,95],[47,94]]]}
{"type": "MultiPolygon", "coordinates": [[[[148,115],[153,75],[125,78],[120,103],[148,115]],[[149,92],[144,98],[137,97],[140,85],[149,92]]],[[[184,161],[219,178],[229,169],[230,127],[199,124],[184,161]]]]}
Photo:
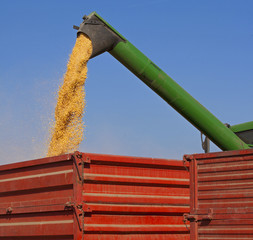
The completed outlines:
{"type": "Polygon", "coordinates": [[[253,149],[186,155],[191,240],[253,239],[253,149]]]}

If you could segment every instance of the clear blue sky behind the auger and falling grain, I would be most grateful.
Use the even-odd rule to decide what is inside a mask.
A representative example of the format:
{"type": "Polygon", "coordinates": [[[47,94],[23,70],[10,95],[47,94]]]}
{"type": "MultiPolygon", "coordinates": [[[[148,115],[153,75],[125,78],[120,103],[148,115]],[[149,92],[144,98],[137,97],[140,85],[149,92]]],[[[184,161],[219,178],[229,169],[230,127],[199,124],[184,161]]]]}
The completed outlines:
{"type": "MultiPolygon", "coordinates": [[[[92,11],[222,122],[252,121],[253,1],[2,0],[1,164],[45,156],[72,25],[92,11]]],[[[85,89],[80,151],[171,159],[202,152],[198,130],[110,54],[88,63],[85,89]]]]}

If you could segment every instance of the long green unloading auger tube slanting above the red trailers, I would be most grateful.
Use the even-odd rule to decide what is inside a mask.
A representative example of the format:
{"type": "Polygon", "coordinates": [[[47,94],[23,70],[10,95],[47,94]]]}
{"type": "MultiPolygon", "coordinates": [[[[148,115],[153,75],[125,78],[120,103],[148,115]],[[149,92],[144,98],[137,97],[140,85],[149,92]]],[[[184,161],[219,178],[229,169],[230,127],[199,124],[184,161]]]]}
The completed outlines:
{"type": "MultiPolygon", "coordinates": [[[[104,48],[105,51],[109,51],[113,57],[140,78],[218,147],[224,151],[249,148],[233,131],[220,122],[97,13],[93,12],[88,17],[84,17],[84,23],[80,26],[79,31],[88,34],[94,42],[93,46],[96,46],[100,36],[94,37],[93,33],[94,31],[99,33],[99,27],[101,26],[104,26],[111,34],[118,37],[118,41],[113,45],[109,44],[108,47],[104,48]],[[93,20],[91,25],[88,25],[89,19],[93,20]],[[96,25],[94,25],[94,20],[96,25]],[[88,26],[89,31],[92,33],[86,31],[88,26]],[[97,30],[94,30],[95,27],[97,27],[97,30]]],[[[102,51],[97,52],[101,53],[102,51]]],[[[97,53],[93,53],[93,55],[96,56],[97,53]]]]}

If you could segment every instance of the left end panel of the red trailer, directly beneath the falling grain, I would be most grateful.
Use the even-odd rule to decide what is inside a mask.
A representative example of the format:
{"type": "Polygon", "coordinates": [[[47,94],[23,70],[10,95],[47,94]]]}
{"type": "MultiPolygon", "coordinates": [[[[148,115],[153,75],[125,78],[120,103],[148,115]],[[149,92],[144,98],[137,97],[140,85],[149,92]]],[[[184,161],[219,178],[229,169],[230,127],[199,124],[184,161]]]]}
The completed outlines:
{"type": "Polygon", "coordinates": [[[0,239],[73,239],[70,155],[0,166],[0,239]]]}

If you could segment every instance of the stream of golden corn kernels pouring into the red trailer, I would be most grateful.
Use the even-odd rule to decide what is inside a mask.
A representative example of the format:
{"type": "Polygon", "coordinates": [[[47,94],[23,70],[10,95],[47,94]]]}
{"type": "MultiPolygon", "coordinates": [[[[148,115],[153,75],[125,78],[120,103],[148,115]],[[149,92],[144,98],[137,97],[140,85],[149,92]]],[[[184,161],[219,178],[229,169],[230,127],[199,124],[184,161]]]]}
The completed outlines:
{"type": "Polygon", "coordinates": [[[76,151],[83,140],[84,84],[91,53],[90,39],[80,34],[70,55],[63,84],[58,91],[55,121],[51,128],[47,156],[76,151]]]}

